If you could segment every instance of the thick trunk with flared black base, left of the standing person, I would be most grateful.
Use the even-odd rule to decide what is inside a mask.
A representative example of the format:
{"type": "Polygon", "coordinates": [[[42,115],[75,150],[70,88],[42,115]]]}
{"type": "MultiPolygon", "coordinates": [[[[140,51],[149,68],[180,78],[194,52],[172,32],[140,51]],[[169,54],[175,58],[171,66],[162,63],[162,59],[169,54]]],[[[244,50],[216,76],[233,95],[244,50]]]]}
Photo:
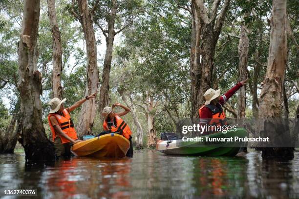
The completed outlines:
{"type": "Polygon", "coordinates": [[[43,120],[41,73],[37,69],[37,36],[40,0],[25,0],[19,42],[19,91],[21,97],[21,133],[26,160],[54,159],[53,144],[46,138],[43,120]]]}

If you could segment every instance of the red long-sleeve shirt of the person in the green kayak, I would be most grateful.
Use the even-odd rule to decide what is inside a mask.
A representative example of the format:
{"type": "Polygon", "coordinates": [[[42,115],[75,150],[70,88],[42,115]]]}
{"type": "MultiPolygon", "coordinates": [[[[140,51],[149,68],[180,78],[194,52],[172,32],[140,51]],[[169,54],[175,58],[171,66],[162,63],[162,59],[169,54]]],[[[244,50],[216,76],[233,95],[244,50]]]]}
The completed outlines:
{"type": "MultiPolygon", "coordinates": [[[[219,103],[223,106],[227,100],[229,100],[234,94],[235,92],[237,92],[237,90],[239,90],[239,88],[242,87],[242,83],[237,83],[233,88],[231,88],[230,90],[228,90],[224,95],[222,95],[219,99],[219,103]]],[[[201,114],[200,114],[200,118],[202,119],[210,119],[213,118],[212,116],[212,112],[209,108],[207,107],[203,107],[201,110],[201,114]]],[[[204,122],[205,120],[201,120],[200,123],[207,123],[204,122]]]]}

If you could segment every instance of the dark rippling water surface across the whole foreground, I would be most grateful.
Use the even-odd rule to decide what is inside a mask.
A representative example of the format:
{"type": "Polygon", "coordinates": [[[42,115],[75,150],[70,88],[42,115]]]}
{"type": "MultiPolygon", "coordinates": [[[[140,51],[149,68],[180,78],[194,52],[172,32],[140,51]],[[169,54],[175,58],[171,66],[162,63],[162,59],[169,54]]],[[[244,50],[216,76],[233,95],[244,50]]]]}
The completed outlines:
{"type": "Polygon", "coordinates": [[[0,193],[37,188],[46,199],[299,198],[298,152],[291,161],[263,161],[259,152],[212,158],[143,151],[132,159],[25,164],[17,154],[0,155],[0,162],[0,193]]]}

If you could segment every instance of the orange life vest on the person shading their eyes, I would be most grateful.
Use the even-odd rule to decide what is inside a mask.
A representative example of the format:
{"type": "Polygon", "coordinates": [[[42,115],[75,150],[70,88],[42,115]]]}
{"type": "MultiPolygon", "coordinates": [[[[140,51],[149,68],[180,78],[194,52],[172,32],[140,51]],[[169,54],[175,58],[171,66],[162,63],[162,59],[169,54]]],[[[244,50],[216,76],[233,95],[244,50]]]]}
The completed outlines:
{"type": "MultiPolygon", "coordinates": [[[[118,133],[122,134],[125,138],[129,139],[130,135],[132,134],[130,127],[118,115],[115,115],[114,119],[116,120],[116,127],[114,125],[112,125],[111,132],[118,132],[118,133]]],[[[103,128],[105,131],[110,130],[108,127],[107,119],[104,120],[103,128]]]]}

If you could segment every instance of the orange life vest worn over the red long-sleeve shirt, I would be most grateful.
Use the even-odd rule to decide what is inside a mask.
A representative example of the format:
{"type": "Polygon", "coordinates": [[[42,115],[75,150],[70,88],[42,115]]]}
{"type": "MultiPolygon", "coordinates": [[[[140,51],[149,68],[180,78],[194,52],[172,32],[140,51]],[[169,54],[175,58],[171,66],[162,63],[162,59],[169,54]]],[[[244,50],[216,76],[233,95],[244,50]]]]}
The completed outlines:
{"type": "MultiPolygon", "coordinates": [[[[221,104],[219,103],[219,106],[221,107],[221,104]]],[[[225,119],[225,113],[222,110],[222,108],[218,108],[215,105],[212,104],[208,104],[208,105],[203,105],[199,108],[198,112],[199,112],[199,118],[201,115],[201,111],[204,107],[207,107],[208,109],[210,109],[210,111],[212,112],[212,118],[204,118],[204,119],[210,119],[208,122],[208,125],[215,125],[215,126],[223,126],[223,125],[227,125],[226,119],[225,119]]]]}

